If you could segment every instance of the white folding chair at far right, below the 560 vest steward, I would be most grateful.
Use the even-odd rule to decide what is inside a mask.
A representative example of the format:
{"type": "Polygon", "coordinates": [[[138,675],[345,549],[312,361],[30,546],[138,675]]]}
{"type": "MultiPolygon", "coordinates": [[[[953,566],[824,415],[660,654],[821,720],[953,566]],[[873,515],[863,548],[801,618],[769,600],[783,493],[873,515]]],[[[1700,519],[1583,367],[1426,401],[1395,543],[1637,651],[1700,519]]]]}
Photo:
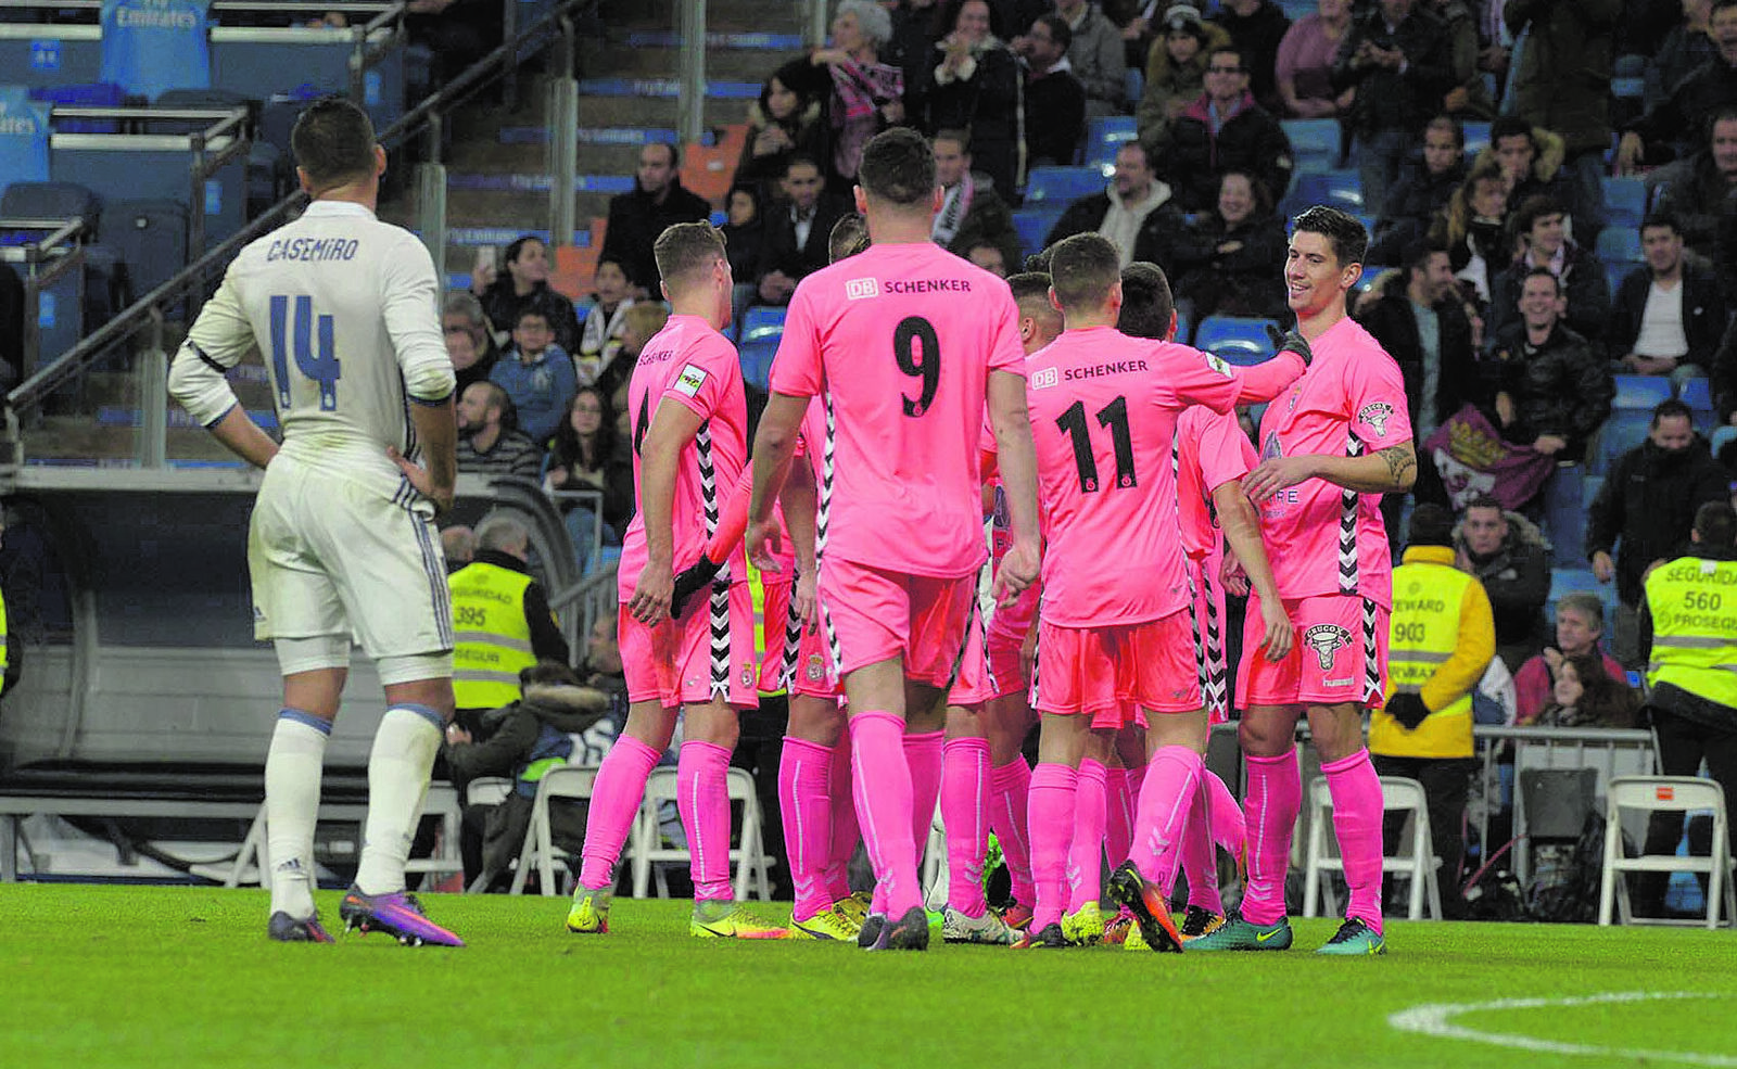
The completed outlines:
{"type": "Polygon", "coordinates": [[[1725,916],[1737,921],[1737,892],[1732,889],[1730,838],[1727,833],[1725,791],[1711,779],[1695,776],[1619,776],[1610,781],[1605,802],[1605,864],[1598,887],[1598,923],[1608,925],[1612,906],[1619,923],[1683,925],[1662,916],[1635,916],[1629,909],[1628,880],[1624,873],[1707,873],[1707,927],[1720,927],[1720,904],[1725,916]],[[1676,812],[1697,809],[1713,810],[1713,854],[1709,857],[1678,857],[1674,854],[1622,856],[1622,810],[1676,812]]]}

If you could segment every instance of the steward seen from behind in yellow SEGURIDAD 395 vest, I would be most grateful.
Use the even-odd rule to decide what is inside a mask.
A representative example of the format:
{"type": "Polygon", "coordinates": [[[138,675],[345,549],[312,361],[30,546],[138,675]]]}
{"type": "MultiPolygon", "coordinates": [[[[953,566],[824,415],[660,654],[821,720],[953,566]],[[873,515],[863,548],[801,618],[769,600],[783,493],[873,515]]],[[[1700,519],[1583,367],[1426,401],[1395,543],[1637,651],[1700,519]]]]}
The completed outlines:
{"type": "Polygon", "coordinates": [[[542,587],[526,573],[530,536],[495,517],[476,533],[476,559],[446,576],[452,592],[452,691],[460,710],[519,698],[519,672],[538,659],[568,663],[566,639],[542,587]]]}

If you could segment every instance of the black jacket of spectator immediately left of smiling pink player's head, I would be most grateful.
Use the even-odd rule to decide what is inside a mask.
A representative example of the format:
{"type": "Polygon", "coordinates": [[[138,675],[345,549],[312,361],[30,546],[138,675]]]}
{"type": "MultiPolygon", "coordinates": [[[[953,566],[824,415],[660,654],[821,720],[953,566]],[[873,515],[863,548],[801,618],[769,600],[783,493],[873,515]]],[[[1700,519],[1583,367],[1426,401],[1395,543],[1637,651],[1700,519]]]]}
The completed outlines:
{"type": "Polygon", "coordinates": [[[1285,224],[1268,212],[1226,226],[1204,212],[1171,241],[1174,290],[1193,302],[1195,323],[1212,314],[1277,319],[1285,314],[1285,224]],[[1240,241],[1235,252],[1218,246],[1240,241]]]}

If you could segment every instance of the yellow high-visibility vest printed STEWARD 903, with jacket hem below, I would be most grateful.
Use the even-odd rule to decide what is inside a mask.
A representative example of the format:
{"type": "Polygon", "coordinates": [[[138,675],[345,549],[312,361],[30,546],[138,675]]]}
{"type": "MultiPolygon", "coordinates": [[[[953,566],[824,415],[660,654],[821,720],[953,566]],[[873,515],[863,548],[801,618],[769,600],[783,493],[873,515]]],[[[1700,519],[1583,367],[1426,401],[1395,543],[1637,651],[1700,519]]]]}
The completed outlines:
{"type": "MultiPolygon", "coordinates": [[[[1459,646],[1459,611],[1476,580],[1445,564],[1393,569],[1393,620],[1388,632],[1388,685],[1417,694],[1459,646]]],[[[1386,710],[1369,718],[1370,753],[1391,757],[1471,757],[1471,694],[1440,708],[1407,731],[1386,710]]]]}

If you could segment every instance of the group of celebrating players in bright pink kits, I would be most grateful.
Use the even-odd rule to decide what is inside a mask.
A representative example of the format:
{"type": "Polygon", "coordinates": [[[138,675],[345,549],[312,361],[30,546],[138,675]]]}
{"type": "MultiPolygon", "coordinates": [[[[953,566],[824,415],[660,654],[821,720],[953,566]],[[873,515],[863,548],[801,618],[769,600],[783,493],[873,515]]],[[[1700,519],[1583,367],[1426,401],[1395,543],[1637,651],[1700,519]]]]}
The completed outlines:
{"type": "Polygon", "coordinates": [[[1384,691],[1379,500],[1410,488],[1416,456],[1400,371],[1346,314],[1362,224],[1320,207],[1296,219],[1285,285],[1298,326],[1275,359],[1230,368],[1171,340],[1164,274],[1122,269],[1105,238],[1060,241],[1047,272],[1002,281],[929,239],[936,207],[928,144],[910,130],[875,137],[856,187],[867,241],[835,234],[832,266],[797,286],[752,465],[721,333],[723,239],[707,224],[658,238],[672,316],[629,394],[641,502],[620,567],[631,712],[598,772],[566,927],[608,930],[646,776],[684,715],[695,935],[924,949],[919,852],[938,802],[948,942],[1284,949],[1306,712],[1350,885],[1346,921],[1320,951],[1384,953],[1381,784],[1362,710],[1384,691]],[[1258,453],[1233,415],[1254,403],[1268,403],[1258,453]],[[749,559],[787,592],[768,595],[766,620],[789,606],[789,925],[730,887],[726,771],[757,680],[749,559]],[[1202,758],[1232,698],[1226,585],[1252,590],[1235,692],[1242,807],[1202,758]],[[1030,769],[1020,744],[1034,718],[1030,769]],[[990,833],[1013,883],[1002,911],[981,882],[990,833]],[[858,838],[872,895],[846,882],[858,838]],[[1218,847],[1247,869],[1228,915],[1218,847]],[[1113,911],[1098,902],[1105,856],[1113,911]],[[1188,906],[1172,916],[1179,869],[1188,906]]]}

